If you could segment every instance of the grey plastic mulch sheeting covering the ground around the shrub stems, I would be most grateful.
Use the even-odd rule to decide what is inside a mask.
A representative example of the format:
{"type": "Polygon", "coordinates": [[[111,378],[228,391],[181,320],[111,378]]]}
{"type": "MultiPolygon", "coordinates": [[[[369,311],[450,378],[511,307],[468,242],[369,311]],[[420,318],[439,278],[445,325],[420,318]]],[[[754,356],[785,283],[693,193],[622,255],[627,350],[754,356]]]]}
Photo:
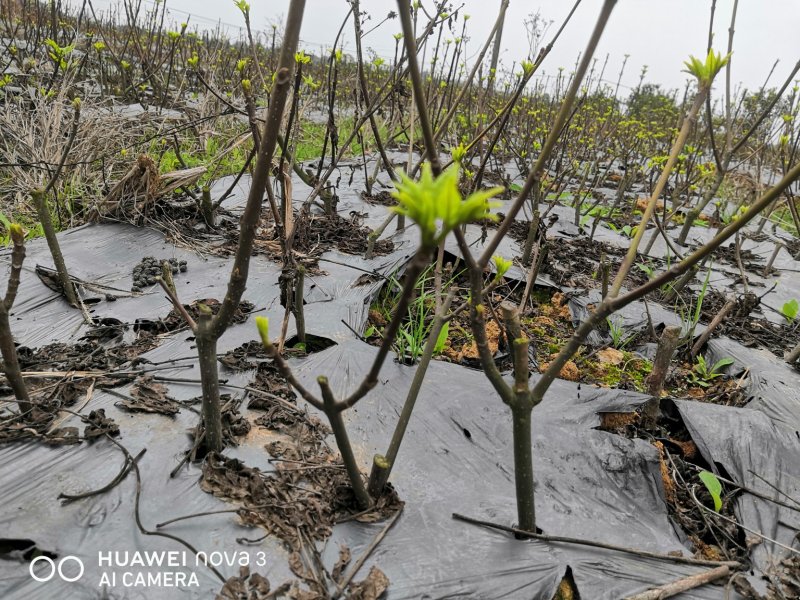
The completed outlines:
{"type": "MultiPolygon", "coordinates": [[[[346,199],[341,210],[364,211],[372,227],[386,214],[383,207],[356,198],[346,199]]],[[[470,230],[470,241],[475,242],[478,235],[479,230],[470,230]]],[[[174,257],[188,263],[186,273],[176,277],[184,303],[221,299],[225,294],[229,261],[178,249],[155,231],[94,225],[65,232],[60,239],[71,273],[80,279],[129,290],[132,269],[143,257],[174,257]]],[[[336,345],[292,360],[301,382],[311,386],[318,375],[327,375],[334,391],[342,394],[352,390],[369,368],[376,349],[358,340],[353,330],[363,328],[370,300],[384,277],[401,269],[413,252],[412,233],[394,239],[391,254],[371,261],[327,252],[320,260],[323,272],[307,278],[308,332],[336,345]],[[365,274],[370,276],[366,280],[365,274]]],[[[78,311],[67,307],[33,274],[37,263],[51,264],[42,241],[28,247],[13,314],[16,340],[28,347],[52,341],[74,343],[89,328],[78,311]]],[[[253,314],[267,315],[275,322],[283,316],[279,273],[275,263],[254,257],[244,296],[253,303],[253,314]]],[[[132,328],[142,320],[156,322],[171,309],[157,289],[113,302],[103,294],[87,293],[87,297],[93,295],[98,301],[89,305],[92,316],[121,328],[132,328]]],[[[578,320],[586,306],[586,299],[581,300],[572,306],[578,320]]],[[[650,309],[654,310],[652,304],[650,309]]],[[[653,314],[658,322],[675,319],[664,309],[653,314]]],[[[626,327],[643,323],[640,306],[631,307],[624,317],[626,327]]],[[[292,328],[290,325],[289,335],[292,328]]],[[[130,330],[126,331],[129,334],[130,330]]],[[[218,351],[226,352],[256,338],[251,314],[225,333],[218,351]]],[[[800,377],[775,357],[763,357],[727,340],[713,341],[711,349],[720,356],[734,357],[738,368],[749,369],[752,400],[744,409],[676,402],[695,443],[720,474],[770,494],[760,476],[798,497],[800,377]]],[[[144,357],[157,362],[195,352],[191,334],[184,330],[164,334],[162,343],[144,357]]],[[[196,380],[197,366],[190,365],[161,373],[196,380]]],[[[225,393],[241,393],[231,386],[246,385],[253,377],[248,371],[220,369],[225,393]]],[[[375,452],[385,451],[413,373],[412,367],[388,361],[379,385],[346,413],[362,469],[367,470],[375,452]]],[[[178,400],[200,394],[199,386],[192,383],[167,386],[178,400]]],[[[118,390],[126,393],[125,387],[118,390]]],[[[533,418],[537,525],[544,533],[690,556],[690,543],[667,513],[657,450],[643,440],[597,429],[600,413],[630,412],[647,399],[643,394],[560,380],[552,385],[533,418]]],[[[232,508],[199,488],[199,465],[190,464],[170,477],[190,446],[187,430],[197,423],[195,412],[182,408],[173,417],[132,414],[120,410],[118,402],[118,397],[98,389],[82,411],[105,409],[119,424],[119,441],[131,454],[146,449],[138,463],[142,478],[139,514],[145,528],[152,530],[156,523],[181,515],[232,508]]],[[[242,412],[248,416],[244,407],[242,412]]],[[[273,467],[264,448],[267,438],[263,429],[254,426],[226,455],[268,472],[273,467]]],[[[330,443],[333,445],[332,439],[330,443]]],[[[188,564],[170,570],[187,576],[193,573],[197,585],[141,587],[126,586],[121,580],[105,588],[100,585],[103,574],[114,569],[101,564],[99,553],[185,550],[173,540],[140,533],[134,519],[137,488],[133,474],[107,493],[64,505],[59,501],[62,492],[78,493],[108,483],[122,464],[120,450],[102,438],[92,444],[60,447],[37,442],[0,446],[0,545],[12,548],[0,552],[0,598],[209,598],[219,591],[220,582],[205,567],[195,566],[188,551],[188,564]],[[74,583],[58,578],[37,582],[29,574],[29,563],[13,551],[16,546],[8,540],[30,540],[41,552],[79,557],[85,573],[74,583]]],[[[379,566],[389,578],[387,597],[392,600],[550,600],[567,570],[582,597],[612,600],[704,569],[618,551],[518,541],[452,519],[454,512],[505,525],[513,525],[516,519],[510,411],[481,372],[463,366],[431,364],[392,483],[405,508],[359,572],[363,576],[372,565],[379,566]]],[[[786,544],[798,525],[796,511],[749,495],[738,500],[737,516],[744,526],[786,544]]],[[[359,556],[383,526],[352,521],[337,525],[332,536],[318,544],[325,566],[333,567],[341,544],[346,544],[354,557],[359,556]]],[[[241,525],[231,512],[179,522],[164,531],[202,552],[243,553],[251,569],[273,584],[293,578],[281,542],[274,537],[257,544],[238,542],[237,538],[258,538],[261,533],[241,525]]],[[[767,542],[752,547],[756,570],[768,571],[782,556],[780,548],[767,542]]],[[[239,564],[218,566],[225,577],[238,573],[238,568],[239,564]]],[[[151,568],[150,572],[158,570],[151,568]]],[[[763,587],[758,572],[754,571],[751,579],[763,587]]],[[[677,598],[723,596],[721,587],[704,586],[677,598]]],[[[733,593],[731,597],[737,596],[733,593]]]]}

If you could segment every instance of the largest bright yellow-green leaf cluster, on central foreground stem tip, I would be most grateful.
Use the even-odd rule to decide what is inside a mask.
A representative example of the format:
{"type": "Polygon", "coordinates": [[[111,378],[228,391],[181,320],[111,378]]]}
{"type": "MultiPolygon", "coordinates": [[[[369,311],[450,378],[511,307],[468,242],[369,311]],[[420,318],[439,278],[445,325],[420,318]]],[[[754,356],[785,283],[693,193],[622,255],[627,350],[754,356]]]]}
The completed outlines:
{"type": "Polygon", "coordinates": [[[465,199],[458,189],[458,175],[459,166],[454,164],[434,178],[430,164],[425,163],[419,181],[401,173],[400,181],[395,184],[392,196],[397,199],[398,206],[394,210],[419,225],[422,245],[427,249],[438,246],[460,225],[481,219],[497,220],[489,210],[498,204],[489,202],[489,198],[503,188],[480,190],[465,199]]]}

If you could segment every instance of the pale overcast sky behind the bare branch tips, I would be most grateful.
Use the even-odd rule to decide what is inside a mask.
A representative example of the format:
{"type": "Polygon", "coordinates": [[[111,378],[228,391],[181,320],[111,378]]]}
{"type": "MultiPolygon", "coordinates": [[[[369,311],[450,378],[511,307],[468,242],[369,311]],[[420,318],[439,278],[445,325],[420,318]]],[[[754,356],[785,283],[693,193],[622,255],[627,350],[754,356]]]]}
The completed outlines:
{"type": "MultiPolygon", "coordinates": [[[[73,2],[76,0],[73,0],[73,2]]],[[[95,7],[107,7],[115,0],[93,0],[95,7]]],[[[146,0],[147,4],[152,2],[146,0]]],[[[176,22],[191,22],[211,27],[221,20],[230,26],[241,26],[243,19],[232,0],[166,0],[176,22]]],[[[289,0],[250,0],[255,28],[266,30],[280,22],[289,0]]],[[[430,10],[433,0],[424,0],[430,10]]],[[[558,67],[572,68],[583,50],[602,2],[583,0],[572,21],[542,66],[545,74],[554,74],[558,67]]],[[[718,0],[715,16],[716,49],[727,46],[728,26],[734,0],[718,0]]],[[[497,16],[500,0],[454,0],[454,7],[471,16],[468,22],[467,56],[480,50],[497,16]]],[[[531,12],[553,21],[554,33],[573,0],[511,0],[501,44],[501,61],[510,67],[527,54],[527,38],[523,21],[531,12]]],[[[690,54],[705,55],[711,0],[619,0],[598,48],[598,68],[609,56],[604,79],[616,82],[625,54],[629,54],[623,85],[633,86],[643,65],[648,66],[647,80],[667,88],[682,88],[687,75],[681,72],[683,61],[690,54]]],[[[330,46],[349,6],[346,0],[307,0],[301,38],[309,50],[330,46]]],[[[396,0],[361,0],[362,10],[372,15],[365,30],[396,10],[396,0]]],[[[234,30],[235,31],[235,30],[234,30]]],[[[378,55],[391,58],[392,35],[400,31],[399,19],[388,21],[365,38],[365,46],[378,55]]],[[[346,32],[345,48],[352,50],[352,23],[346,32]]],[[[545,36],[545,40],[549,36],[545,36]]],[[[761,86],[773,63],[780,60],[770,83],[778,86],[800,60],[800,0],[740,0],[736,19],[732,62],[733,82],[749,89],[761,86]]]]}

